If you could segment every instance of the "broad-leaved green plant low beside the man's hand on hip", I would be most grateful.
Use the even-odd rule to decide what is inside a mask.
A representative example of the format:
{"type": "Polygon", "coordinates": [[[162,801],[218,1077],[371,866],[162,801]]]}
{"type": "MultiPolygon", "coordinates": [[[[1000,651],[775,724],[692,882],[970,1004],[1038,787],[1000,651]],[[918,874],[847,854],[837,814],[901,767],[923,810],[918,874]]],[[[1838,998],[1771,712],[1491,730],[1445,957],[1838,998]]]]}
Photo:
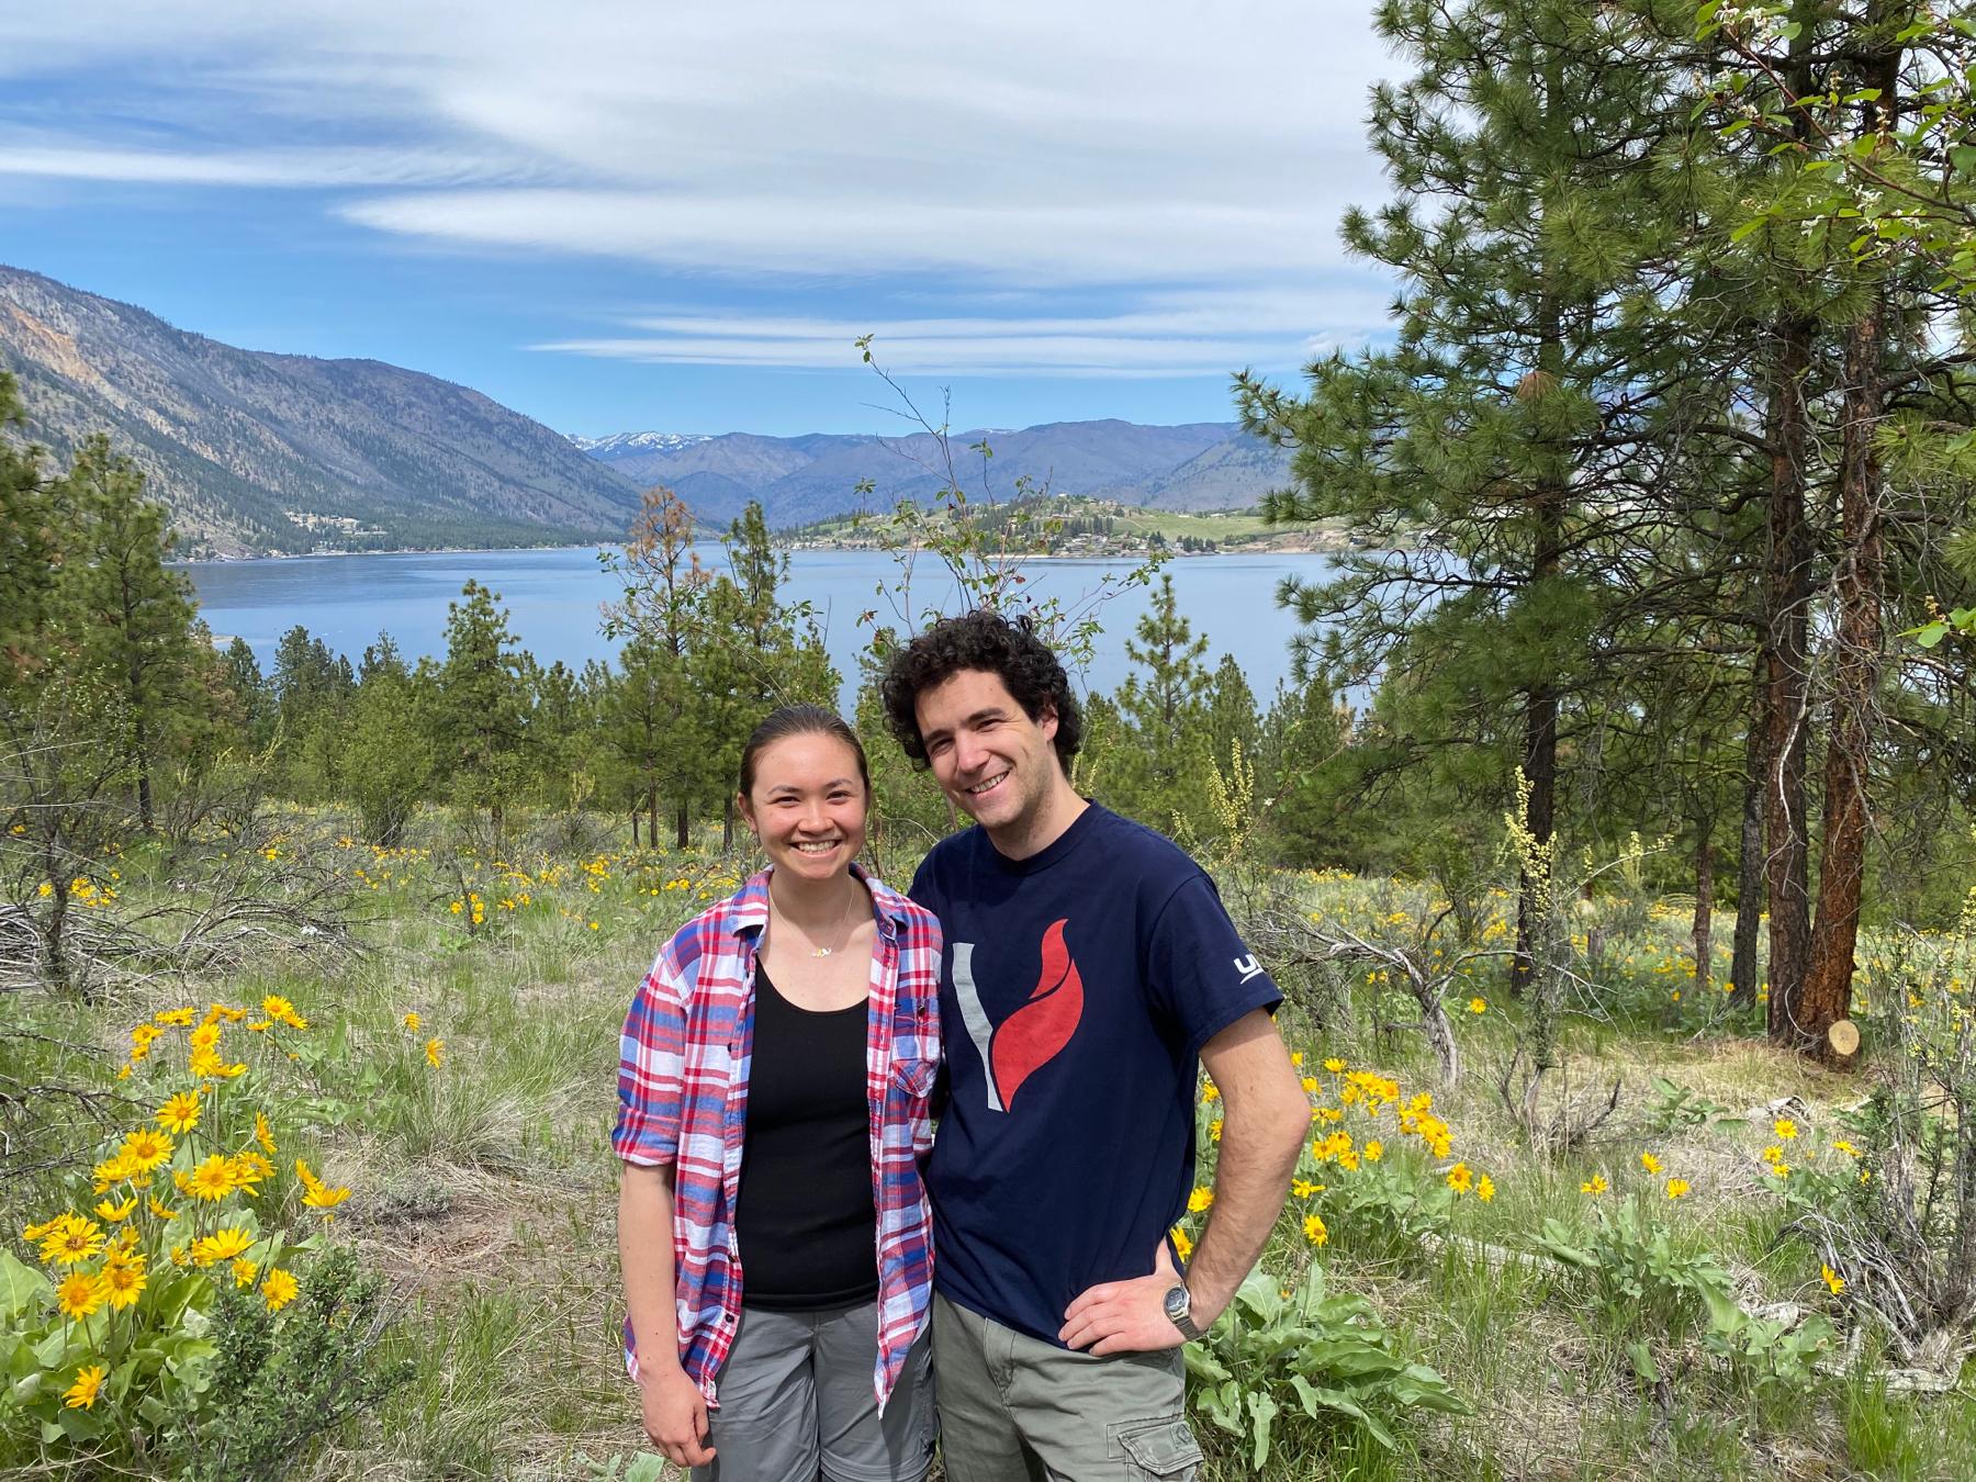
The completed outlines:
{"type": "Polygon", "coordinates": [[[1395,1415],[1468,1413],[1441,1373],[1395,1350],[1371,1304],[1326,1294],[1324,1269],[1312,1263],[1294,1296],[1269,1273],[1251,1273],[1186,1358],[1194,1407],[1247,1444],[1261,1468],[1280,1425],[1358,1425],[1395,1450],[1395,1415]]]}

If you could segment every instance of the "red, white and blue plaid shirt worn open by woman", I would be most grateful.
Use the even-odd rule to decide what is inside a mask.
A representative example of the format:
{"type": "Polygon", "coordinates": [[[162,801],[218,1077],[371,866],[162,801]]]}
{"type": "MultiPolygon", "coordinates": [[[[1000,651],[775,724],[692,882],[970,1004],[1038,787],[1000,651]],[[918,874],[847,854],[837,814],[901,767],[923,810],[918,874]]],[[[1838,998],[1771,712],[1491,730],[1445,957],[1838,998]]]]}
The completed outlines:
{"type": "MultiPolygon", "coordinates": [[[[919,1166],[933,1148],[927,1099],[941,1059],[941,925],[852,865],[871,891],[877,939],[865,1028],[871,1197],[877,1207],[877,1367],[883,1407],[933,1298],[933,1213],[919,1166]]],[[[611,1146],[670,1164],[680,1363],[707,1403],[741,1322],[733,1209],[741,1192],[747,1079],[755,1047],[755,948],[769,923],[769,871],[688,921],[646,974],[624,1020],[611,1146]]],[[[624,1361],[638,1359],[624,1324],[624,1361]]]]}

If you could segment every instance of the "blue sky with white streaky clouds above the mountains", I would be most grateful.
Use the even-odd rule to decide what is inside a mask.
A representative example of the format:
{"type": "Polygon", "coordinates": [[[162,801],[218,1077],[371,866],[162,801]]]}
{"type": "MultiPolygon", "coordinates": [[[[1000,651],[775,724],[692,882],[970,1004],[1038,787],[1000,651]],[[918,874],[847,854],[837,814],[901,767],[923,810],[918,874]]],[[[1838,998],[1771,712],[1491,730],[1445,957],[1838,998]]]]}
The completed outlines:
{"type": "Polygon", "coordinates": [[[1229,417],[1383,334],[1363,0],[0,12],[0,261],[559,431],[1229,417]],[[684,14],[682,14],[684,12],[684,14]]]}

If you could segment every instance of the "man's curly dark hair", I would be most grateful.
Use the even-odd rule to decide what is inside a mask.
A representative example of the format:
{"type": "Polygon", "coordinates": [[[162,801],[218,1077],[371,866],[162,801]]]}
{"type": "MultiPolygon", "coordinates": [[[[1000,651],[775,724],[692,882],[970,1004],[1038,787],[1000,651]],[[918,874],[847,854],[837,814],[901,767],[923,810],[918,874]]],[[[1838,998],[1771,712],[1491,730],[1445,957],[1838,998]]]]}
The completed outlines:
{"type": "Polygon", "coordinates": [[[915,771],[927,769],[927,743],[919,735],[919,696],[960,670],[986,670],[998,676],[1031,721],[1039,721],[1045,709],[1057,711],[1057,735],[1051,745],[1063,771],[1071,771],[1071,757],[1085,739],[1071,676],[1063,672],[1049,644],[1035,636],[1035,622],[1028,615],[1010,618],[988,609],[941,618],[897,650],[885,666],[879,684],[885,729],[905,747],[915,771]]]}

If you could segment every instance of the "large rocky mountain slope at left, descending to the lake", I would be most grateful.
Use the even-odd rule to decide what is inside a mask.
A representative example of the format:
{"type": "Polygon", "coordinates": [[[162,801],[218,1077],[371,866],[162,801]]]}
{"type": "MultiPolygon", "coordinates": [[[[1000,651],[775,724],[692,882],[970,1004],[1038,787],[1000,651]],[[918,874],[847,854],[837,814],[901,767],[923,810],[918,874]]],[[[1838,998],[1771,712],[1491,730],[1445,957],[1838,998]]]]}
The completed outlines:
{"type": "Polygon", "coordinates": [[[0,267],[26,435],[144,470],[184,549],[257,555],[620,537],[638,486],[539,423],[373,360],[277,356],[0,267]]]}

